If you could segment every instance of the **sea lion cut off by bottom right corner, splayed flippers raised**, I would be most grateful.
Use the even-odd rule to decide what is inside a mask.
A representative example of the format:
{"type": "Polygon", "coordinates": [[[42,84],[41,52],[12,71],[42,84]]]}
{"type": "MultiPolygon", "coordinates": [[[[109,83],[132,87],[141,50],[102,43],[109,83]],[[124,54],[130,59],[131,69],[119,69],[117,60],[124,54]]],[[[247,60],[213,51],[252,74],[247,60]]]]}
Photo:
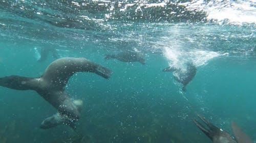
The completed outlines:
{"type": "Polygon", "coordinates": [[[237,138],[237,141],[226,131],[212,125],[209,121],[207,121],[204,117],[197,115],[207,127],[204,127],[197,120],[193,120],[197,127],[203,131],[205,135],[207,135],[212,142],[214,143],[253,143],[248,135],[241,131],[241,129],[236,125],[232,124],[234,135],[237,138]],[[238,139],[239,138],[239,139],[238,139]]]}

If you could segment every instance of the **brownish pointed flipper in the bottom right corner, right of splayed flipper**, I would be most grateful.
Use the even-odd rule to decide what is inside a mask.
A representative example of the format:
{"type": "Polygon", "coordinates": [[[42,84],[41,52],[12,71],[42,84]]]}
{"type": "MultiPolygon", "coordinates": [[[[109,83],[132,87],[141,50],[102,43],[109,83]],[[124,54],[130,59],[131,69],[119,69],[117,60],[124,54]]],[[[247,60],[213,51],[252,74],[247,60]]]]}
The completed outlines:
{"type": "Polygon", "coordinates": [[[251,138],[236,123],[233,122],[231,127],[238,143],[253,143],[251,138]]]}

